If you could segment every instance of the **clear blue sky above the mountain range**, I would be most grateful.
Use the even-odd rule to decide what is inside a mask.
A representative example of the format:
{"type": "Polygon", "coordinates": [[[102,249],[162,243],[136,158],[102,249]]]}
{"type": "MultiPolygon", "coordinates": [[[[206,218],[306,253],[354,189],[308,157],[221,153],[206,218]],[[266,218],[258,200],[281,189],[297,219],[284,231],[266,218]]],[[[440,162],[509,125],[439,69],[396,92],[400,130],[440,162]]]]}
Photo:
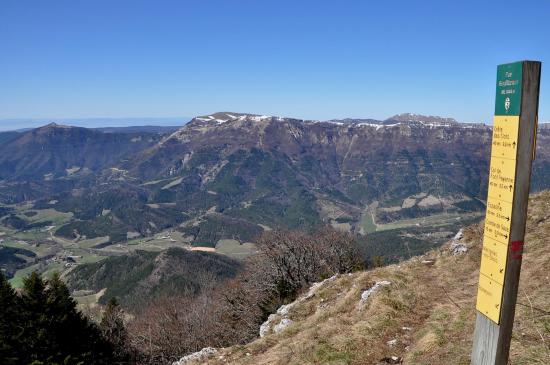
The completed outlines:
{"type": "MultiPolygon", "coordinates": [[[[550,60],[549,15],[548,0],[2,0],[0,119],[490,122],[496,65],[550,60]]],[[[543,64],[543,121],[549,98],[543,64]]]]}

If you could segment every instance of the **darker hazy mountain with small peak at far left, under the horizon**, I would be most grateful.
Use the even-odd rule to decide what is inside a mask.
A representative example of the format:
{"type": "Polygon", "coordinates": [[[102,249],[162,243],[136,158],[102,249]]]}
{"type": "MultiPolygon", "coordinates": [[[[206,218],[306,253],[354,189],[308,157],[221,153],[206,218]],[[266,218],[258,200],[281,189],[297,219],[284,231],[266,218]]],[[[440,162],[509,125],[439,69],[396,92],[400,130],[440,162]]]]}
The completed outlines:
{"type": "Polygon", "coordinates": [[[103,133],[50,123],[9,134],[0,145],[0,180],[45,180],[88,174],[153,145],[152,133],[103,133]]]}

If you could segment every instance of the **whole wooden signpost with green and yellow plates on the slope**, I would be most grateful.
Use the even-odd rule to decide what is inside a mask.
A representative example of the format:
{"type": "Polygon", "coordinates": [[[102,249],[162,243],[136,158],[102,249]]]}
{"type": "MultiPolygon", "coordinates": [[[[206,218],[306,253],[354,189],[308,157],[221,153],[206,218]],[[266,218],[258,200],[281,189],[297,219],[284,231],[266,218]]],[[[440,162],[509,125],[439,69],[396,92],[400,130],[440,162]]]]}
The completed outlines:
{"type": "Polygon", "coordinates": [[[541,63],[497,68],[497,94],[472,365],[506,365],[535,157],[541,63]]]}

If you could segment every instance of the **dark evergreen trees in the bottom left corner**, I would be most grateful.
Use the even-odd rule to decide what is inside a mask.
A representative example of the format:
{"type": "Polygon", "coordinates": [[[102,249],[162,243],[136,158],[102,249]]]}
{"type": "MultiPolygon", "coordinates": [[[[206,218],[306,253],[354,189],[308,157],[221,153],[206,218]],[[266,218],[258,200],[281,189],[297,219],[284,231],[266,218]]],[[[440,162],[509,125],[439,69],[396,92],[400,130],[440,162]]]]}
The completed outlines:
{"type": "Polygon", "coordinates": [[[122,310],[112,300],[100,324],[84,316],[59,274],[32,273],[16,292],[0,273],[0,363],[108,365],[128,363],[122,310]]]}

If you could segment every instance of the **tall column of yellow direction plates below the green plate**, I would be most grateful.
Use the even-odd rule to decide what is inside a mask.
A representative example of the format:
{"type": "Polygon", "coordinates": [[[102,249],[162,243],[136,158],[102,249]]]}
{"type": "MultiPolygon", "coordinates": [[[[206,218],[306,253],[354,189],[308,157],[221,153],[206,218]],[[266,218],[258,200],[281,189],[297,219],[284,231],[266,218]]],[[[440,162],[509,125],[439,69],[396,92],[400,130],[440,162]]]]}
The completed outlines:
{"type": "Polygon", "coordinates": [[[499,323],[514,202],[518,116],[495,116],[476,308],[499,323]]]}

